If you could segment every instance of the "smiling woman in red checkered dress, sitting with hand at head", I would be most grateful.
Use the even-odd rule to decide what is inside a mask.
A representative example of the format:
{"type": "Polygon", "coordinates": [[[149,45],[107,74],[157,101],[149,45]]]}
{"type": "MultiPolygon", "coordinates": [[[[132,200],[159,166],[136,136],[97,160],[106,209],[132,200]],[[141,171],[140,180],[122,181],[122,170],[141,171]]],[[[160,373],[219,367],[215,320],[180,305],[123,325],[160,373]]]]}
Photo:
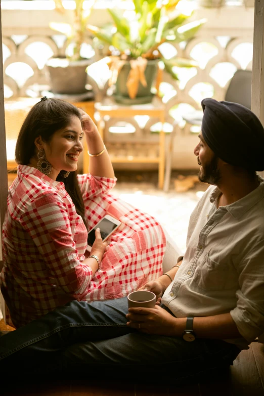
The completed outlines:
{"type": "Polygon", "coordinates": [[[1,274],[15,327],[74,299],[123,297],[161,274],[163,230],[153,217],[109,194],[116,183],[113,167],[86,113],[68,102],[42,98],[21,127],[16,161],[1,274]],[[90,173],[76,175],[83,136],[90,173]],[[105,214],[118,218],[121,226],[108,245],[97,230],[89,253],[87,231],[105,214]]]}

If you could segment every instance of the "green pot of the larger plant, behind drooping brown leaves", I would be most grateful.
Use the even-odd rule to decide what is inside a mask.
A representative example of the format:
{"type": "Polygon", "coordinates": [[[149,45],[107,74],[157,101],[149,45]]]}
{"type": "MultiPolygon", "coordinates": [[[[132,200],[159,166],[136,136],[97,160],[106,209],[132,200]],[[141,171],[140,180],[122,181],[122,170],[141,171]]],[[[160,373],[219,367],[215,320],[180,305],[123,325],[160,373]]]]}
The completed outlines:
{"type": "Polygon", "coordinates": [[[115,101],[117,103],[123,103],[128,105],[150,103],[154,96],[154,94],[151,93],[151,88],[157,73],[157,66],[158,59],[148,61],[147,67],[145,69],[147,86],[143,86],[142,83],[139,82],[139,90],[137,96],[135,99],[131,99],[129,98],[126,87],[127,77],[131,69],[129,61],[127,61],[123,65],[117,77],[114,94],[115,101]]]}

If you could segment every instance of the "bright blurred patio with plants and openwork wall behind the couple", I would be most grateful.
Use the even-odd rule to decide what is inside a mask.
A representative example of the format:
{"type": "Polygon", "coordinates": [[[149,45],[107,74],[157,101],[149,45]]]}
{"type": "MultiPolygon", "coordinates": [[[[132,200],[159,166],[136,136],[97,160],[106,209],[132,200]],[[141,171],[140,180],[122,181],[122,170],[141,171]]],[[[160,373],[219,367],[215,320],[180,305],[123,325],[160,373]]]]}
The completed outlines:
{"type": "MultiPolygon", "coordinates": [[[[114,194],[155,215],[185,250],[207,188],[193,149],[203,98],[250,79],[251,0],[2,0],[9,184],[20,126],[42,96],[97,122],[118,178],[114,194]],[[240,74],[239,74],[240,75],[240,74]]],[[[250,103],[250,92],[232,88],[250,103]]],[[[232,100],[231,101],[239,101],[232,100]]],[[[86,172],[84,150],[79,172],[86,172]]]]}

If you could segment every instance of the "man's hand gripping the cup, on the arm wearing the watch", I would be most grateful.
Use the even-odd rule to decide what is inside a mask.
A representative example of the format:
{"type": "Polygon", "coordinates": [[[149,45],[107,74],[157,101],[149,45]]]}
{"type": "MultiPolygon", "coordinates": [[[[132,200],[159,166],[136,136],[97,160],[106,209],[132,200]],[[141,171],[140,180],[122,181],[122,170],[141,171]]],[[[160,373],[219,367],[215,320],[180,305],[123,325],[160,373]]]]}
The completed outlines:
{"type": "Polygon", "coordinates": [[[177,318],[156,305],[155,308],[129,308],[126,318],[127,326],[138,329],[142,333],[180,336],[177,318]],[[178,334],[179,333],[179,334],[178,334]]]}

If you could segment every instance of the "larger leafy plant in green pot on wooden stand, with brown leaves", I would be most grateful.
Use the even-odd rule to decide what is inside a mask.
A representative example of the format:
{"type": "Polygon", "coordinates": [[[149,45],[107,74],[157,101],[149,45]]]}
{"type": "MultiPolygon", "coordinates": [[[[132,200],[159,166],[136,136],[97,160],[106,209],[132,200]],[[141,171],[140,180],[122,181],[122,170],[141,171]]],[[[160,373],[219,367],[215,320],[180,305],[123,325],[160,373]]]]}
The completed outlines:
{"type": "Polygon", "coordinates": [[[133,3],[134,11],[129,16],[108,9],[113,20],[111,25],[103,28],[87,25],[87,29],[112,49],[109,84],[116,84],[115,100],[140,104],[152,100],[151,87],[159,61],[175,79],[178,78],[173,72],[174,66],[197,65],[193,60],[178,56],[165,59],[160,46],[164,42],[188,40],[205,20],[186,24],[190,15],[175,9],[179,0],[133,0],[133,3]]]}

